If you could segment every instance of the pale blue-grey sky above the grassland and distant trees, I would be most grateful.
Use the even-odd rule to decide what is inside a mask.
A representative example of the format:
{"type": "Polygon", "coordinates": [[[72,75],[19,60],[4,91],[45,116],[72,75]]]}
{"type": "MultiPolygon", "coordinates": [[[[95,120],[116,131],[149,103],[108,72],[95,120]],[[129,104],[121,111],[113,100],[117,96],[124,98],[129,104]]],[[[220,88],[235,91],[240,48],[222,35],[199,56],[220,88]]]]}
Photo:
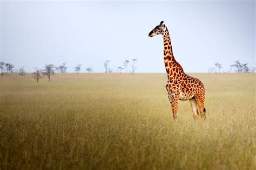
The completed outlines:
{"type": "Polygon", "coordinates": [[[136,58],[137,72],[164,73],[162,37],[148,37],[161,20],[185,72],[255,64],[254,1],[1,1],[0,59],[27,72],[64,61],[68,72],[104,72],[105,60],[116,71],[136,58]]]}

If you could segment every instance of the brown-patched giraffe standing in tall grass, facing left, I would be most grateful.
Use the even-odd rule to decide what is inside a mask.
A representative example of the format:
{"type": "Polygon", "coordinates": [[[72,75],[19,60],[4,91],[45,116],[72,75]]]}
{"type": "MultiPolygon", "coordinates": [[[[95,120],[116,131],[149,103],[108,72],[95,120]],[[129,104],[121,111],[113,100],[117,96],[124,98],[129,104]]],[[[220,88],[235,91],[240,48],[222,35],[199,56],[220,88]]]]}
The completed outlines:
{"type": "Polygon", "coordinates": [[[164,40],[164,64],[167,73],[168,81],[165,85],[169,101],[171,103],[173,119],[178,116],[178,100],[189,100],[193,117],[196,121],[199,117],[205,119],[205,88],[204,84],[194,77],[184,73],[181,65],[175,60],[172,52],[172,44],[169,31],[164,22],[161,21],[150,33],[149,37],[163,35],[164,40]]]}

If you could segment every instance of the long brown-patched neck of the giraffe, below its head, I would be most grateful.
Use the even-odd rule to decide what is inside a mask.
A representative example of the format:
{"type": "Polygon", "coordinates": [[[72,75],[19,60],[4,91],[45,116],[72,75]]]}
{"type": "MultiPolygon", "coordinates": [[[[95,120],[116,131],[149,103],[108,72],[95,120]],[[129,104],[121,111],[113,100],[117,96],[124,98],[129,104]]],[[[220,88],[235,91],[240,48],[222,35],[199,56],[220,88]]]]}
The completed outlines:
{"type": "MultiPolygon", "coordinates": [[[[174,59],[174,56],[173,56],[173,53],[172,53],[171,38],[170,38],[170,34],[169,34],[169,31],[168,31],[167,27],[166,27],[166,30],[165,30],[165,32],[163,34],[163,39],[164,39],[164,63],[165,63],[165,69],[166,69],[167,77],[170,80],[170,78],[173,75],[173,68],[174,67],[180,68],[181,66],[174,59]]],[[[182,69],[182,67],[181,67],[181,69],[182,69]]]]}

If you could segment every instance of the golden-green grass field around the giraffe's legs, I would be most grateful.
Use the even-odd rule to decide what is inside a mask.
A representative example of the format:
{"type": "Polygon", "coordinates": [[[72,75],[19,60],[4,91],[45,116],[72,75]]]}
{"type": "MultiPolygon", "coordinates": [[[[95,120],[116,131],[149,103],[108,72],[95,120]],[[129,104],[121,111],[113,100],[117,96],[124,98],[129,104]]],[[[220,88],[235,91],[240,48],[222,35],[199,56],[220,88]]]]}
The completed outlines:
{"type": "Polygon", "coordinates": [[[0,169],[255,169],[256,74],[188,74],[206,88],[172,118],[166,74],[0,77],[0,169]]]}

